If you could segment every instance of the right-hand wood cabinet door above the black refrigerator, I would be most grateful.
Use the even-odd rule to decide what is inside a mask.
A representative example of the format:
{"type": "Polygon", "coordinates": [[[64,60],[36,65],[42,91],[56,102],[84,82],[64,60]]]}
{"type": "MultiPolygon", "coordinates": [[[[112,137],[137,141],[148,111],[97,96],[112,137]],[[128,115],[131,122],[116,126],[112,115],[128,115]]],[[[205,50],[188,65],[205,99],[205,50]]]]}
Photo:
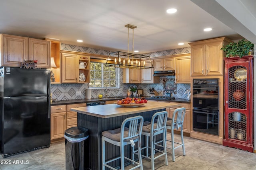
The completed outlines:
{"type": "Polygon", "coordinates": [[[37,60],[37,68],[51,68],[50,41],[29,38],[28,46],[28,59],[37,60]]]}

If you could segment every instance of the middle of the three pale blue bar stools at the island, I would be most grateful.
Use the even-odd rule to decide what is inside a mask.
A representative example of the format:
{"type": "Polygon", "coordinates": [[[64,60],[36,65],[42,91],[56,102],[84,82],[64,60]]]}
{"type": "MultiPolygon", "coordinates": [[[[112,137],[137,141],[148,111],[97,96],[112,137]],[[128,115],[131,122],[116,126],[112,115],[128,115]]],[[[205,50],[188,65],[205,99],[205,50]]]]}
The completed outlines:
{"type": "MultiPolygon", "coordinates": [[[[160,111],[156,112],[149,121],[145,121],[142,127],[142,135],[146,136],[146,146],[141,148],[141,150],[146,149],[146,155],[142,155],[144,158],[151,160],[151,169],[154,170],[154,160],[160,156],[165,156],[165,165],[168,165],[167,151],[166,151],[166,121],[167,112],[160,111]],[[156,142],[156,135],[162,134],[162,139],[156,142]],[[150,146],[148,146],[148,138],[150,137],[150,146]],[[162,145],[160,145],[162,143],[162,145]],[[156,146],[163,148],[163,150],[156,149],[156,146]],[[148,150],[150,148],[151,156],[148,156],[148,150]],[[154,157],[155,152],[158,151],[161,154],[154,157]]],[[[138,150],[139,151],[139,150],[138,150]]],[[[137,150],[135,151],[136,154],[137,150]]]]}

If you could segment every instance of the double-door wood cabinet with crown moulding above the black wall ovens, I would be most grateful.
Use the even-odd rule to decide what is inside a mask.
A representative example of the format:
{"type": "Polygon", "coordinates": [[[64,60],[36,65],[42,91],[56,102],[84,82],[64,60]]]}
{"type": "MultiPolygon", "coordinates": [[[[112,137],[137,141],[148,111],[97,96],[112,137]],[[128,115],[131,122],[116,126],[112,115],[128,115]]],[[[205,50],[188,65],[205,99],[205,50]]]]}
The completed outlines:
{"type": "Polygon", "coordinates": [[[221,37],[189,43],[191,46],[191,76],[223,75],[223,45],[232,42],[221,37]]]}

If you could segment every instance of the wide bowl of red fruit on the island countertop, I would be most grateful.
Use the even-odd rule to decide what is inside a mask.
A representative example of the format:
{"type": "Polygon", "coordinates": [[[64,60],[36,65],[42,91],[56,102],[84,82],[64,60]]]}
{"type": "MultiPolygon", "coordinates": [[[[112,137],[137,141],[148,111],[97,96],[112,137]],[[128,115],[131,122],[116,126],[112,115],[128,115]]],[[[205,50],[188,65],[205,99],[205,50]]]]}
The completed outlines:
{"type": "Polygon", "coordinates": [[[137,107],[137,106],[142,106],[144,104],[147,104],[148,101],[144,98],[130,98],[126,97],[124,99],[118,100],[115,102],[115,104],[124,106],[124,107],[137,107]]]}

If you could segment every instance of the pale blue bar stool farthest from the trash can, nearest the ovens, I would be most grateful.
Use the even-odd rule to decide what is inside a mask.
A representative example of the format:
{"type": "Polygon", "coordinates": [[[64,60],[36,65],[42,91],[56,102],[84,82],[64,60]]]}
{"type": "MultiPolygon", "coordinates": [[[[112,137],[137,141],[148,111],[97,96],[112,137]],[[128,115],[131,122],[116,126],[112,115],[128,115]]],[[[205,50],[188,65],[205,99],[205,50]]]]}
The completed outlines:
{"type": "Polygon", "coordinates": [[[167,140],[172,143],[172,148],[168,148],[172,150],[172,161],[175,161],[175,154],[174,150],[182,147],[183,155],[185,156],[185,145],[184,145],[184,139],[183,139],[183,122],[184,122],[184,117],[185,117],[185,107],[177,108],[174,110],[172,118],[168,118],[166,122],[166,129],[170,129],[171,132],[171,141],[167,140]],[[180,137],[181,137],[181,143],[177,143],[174,141],[174,128],[175,129],[180,129],[180,137]],[[177,147],[174,147],[174,143],[178,144],[177,147]]]}

